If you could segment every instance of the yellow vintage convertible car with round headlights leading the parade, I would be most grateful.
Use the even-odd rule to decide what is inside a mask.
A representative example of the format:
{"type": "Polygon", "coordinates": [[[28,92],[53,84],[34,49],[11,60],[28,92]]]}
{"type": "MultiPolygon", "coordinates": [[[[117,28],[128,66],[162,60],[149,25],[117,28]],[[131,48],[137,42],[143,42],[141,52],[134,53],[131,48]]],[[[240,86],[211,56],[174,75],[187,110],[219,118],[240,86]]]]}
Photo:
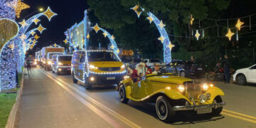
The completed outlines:
{"type": "Polygon", "coordinates": [[[213,84],[201,83],[189,78],[182,78],[176,67],[162,67],[157,74],[149,74],[134,82],[127,77],[117,87],[119,100],[127,103],[155,102],[156,114],[164,122],[174,121],[177,111],[192,110],[197,114],[220,114],[225,102],[220,96],[224,92],[213,84]],[[166,73],[166,70],[169,70],[166,73]]]}

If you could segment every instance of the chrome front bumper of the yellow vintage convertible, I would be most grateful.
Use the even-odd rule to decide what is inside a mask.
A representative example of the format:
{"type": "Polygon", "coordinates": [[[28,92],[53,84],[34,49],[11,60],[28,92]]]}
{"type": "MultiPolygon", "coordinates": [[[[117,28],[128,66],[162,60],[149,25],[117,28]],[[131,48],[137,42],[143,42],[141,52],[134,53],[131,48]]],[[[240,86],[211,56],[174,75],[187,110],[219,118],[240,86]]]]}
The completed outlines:
{"type": "Polygon", "coordinates": [[[215,108],[217,109],[218,107],[223,107],[225,105],[225,102],[218,102],[218,103],[213,103],[210,105],[186,105],[186,106],[174,106],[173,110],[174,111],[186,111],[186,110],[200,110],[204,108],[215,108]]]}

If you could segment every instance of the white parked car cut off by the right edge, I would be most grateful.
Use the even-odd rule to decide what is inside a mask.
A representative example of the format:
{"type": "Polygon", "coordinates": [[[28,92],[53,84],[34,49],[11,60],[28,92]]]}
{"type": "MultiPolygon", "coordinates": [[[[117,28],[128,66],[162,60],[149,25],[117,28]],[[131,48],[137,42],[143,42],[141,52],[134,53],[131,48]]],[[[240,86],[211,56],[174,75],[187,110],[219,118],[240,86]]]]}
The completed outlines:
{"type": "Polygon", "coordinates": [[[256,83],[256,65],[236,70],[233,75],[233,80],[238,83],[238,85],[245,85],[247,82],[256,83]]]}

